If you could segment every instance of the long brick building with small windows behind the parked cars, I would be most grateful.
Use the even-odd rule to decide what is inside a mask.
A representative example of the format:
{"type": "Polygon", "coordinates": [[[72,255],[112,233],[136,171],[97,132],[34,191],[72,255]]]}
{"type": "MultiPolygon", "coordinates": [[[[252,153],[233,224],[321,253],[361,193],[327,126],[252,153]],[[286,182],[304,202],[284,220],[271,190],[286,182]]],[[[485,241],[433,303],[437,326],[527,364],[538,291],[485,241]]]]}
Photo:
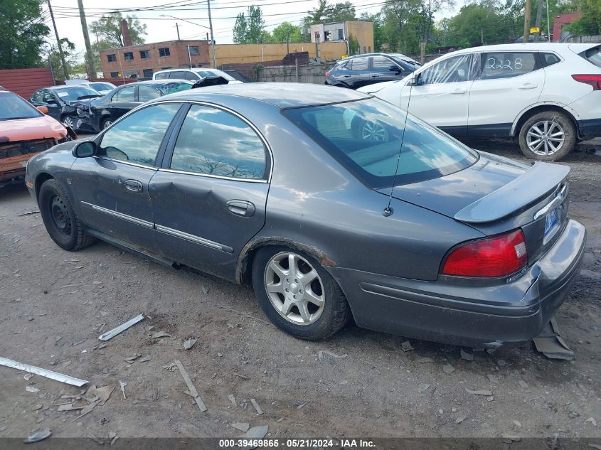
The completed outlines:
{"type": "Polygon", "coordinates": [[[164,41],[100,51],[106,78],[151,78],[158,70],[211,67],[208,41],[164,41]]]}

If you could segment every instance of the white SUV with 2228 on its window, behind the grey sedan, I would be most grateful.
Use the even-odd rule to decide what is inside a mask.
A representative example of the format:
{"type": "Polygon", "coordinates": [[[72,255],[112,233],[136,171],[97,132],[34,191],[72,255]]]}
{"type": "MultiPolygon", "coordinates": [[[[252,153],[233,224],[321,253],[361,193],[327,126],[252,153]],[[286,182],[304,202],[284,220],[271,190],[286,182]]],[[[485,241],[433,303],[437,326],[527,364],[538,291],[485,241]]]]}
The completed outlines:
{"type": "Polygon", "coordinates": [[[561,159],[576,141],[601,136],[598,43],[468,48],[359,90],[458,138],[516,138],[531,159],[561,159]]]}

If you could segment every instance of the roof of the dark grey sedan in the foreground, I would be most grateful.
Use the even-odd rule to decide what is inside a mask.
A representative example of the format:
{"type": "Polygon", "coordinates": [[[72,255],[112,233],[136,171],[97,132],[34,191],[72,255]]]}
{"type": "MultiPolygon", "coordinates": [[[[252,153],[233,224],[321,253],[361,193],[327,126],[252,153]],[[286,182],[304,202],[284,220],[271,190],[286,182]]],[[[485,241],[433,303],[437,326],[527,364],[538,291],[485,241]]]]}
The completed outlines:
{"type": "MultiPolygon", "coordinates": [[[[206,100],[206,94],[217,94],[224,104],[228,97],[245,98],[270,103],[278,108],[328,105],[338,102],[351,102],[371,97],[352,89],[326,85],[309,85],[284,82],[257,82],[233,85],[200,87],[171,94],[170,100],[206,100]]],[[[163,99],[166,97],[163,97],[163,99]]]]}

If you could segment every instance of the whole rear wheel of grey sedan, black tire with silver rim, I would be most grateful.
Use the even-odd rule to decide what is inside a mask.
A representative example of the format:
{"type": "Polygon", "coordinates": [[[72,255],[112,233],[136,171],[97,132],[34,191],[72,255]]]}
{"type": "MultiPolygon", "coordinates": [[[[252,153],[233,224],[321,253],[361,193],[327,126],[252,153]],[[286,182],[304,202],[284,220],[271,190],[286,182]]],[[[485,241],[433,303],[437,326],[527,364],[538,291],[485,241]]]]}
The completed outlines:
{"type": "Polygon", "coordinates": [[[257,252],[252,286],[267,318],[296,338],[328,338],[351,316],[331,275],[314,258],[289,247],[268,246],[257,252]]]}

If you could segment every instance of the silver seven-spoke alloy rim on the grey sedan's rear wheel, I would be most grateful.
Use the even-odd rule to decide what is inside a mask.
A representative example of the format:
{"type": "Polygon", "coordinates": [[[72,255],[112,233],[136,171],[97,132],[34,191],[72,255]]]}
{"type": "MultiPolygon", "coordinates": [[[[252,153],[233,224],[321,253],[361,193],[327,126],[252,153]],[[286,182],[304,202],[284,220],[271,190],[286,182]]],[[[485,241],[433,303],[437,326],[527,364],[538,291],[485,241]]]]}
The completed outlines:
{"type": "Polygon", "coordinates": [[[280,316],[297,325],[314,323],[324,311],[324,284],[317,270],[296,253],[280,252],[270,259],[265,289],[280,316]]]}

